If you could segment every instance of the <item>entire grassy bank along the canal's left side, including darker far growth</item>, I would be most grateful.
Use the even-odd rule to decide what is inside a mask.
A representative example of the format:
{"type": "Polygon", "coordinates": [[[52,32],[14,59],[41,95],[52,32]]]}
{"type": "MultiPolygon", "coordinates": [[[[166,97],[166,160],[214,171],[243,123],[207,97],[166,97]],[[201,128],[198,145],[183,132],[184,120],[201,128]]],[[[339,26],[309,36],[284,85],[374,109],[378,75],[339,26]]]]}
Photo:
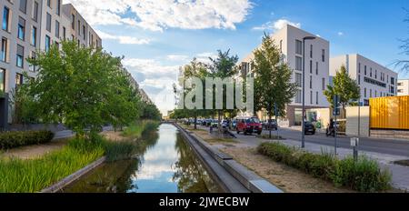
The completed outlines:
{"type": "MultiPolygon", "coordinates": [[[[155,126],[158,126],[155,122],[144,122],[142,126],[135,125],[138,128],[137,131],[141,131],[141,135],[144,131],[155,129],[155,126]]],[[[133,135],[136,134],[129,136],[133,135]]],[[[98,135],[88,141],[73,138],[61,150],[35,159],[2,158],[0,159],[0,192],[38,192],[102,156],[106,156],[107,162],[133,156],[135,146],[135,141],[110,142],[98,135]]]]}

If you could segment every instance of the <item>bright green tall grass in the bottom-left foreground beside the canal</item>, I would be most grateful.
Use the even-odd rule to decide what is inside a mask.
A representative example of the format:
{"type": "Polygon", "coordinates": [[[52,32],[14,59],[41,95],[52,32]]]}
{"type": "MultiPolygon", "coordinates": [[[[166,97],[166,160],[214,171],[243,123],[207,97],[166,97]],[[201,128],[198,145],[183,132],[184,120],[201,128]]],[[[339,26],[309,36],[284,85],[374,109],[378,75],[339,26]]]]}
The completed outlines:
{"type": "Polygon", "coordinates": [[[0,159],[0,192],[34,193],[104,156],[104,147],[73,139],[63,149],[33,160],[0,159]]]}

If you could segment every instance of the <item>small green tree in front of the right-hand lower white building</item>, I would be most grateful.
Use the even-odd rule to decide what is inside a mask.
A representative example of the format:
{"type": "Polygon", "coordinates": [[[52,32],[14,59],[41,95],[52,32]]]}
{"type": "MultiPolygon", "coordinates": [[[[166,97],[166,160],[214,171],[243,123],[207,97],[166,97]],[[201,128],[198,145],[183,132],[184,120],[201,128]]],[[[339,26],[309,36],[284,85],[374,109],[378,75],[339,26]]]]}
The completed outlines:
{"type": "Polygon", "coordinates": [[[324,91],[326,99],[334,108],[334,97],[339,95],[339,104],[345,111],[345,106],[354,105],[361,97],[359,85],[352,79],[344,65],[337,71],[334,76],[333,85],[327,85],[327,90],[324,91]]]}

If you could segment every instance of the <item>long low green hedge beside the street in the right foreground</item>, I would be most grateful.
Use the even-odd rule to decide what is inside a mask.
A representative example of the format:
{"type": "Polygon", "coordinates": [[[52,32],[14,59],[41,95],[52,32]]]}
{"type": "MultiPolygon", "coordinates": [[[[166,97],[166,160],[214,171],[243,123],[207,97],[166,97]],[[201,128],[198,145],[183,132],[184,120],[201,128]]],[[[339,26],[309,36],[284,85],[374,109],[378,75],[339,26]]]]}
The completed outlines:
{"type": "Polygon", "coordinates": [[[263,143],[257,150],[276,162],[331,181],[334,186],[346,186],[361,192],[378,192],[391,188],[391,174],[381,170],[376,161],[366,156],[360,156],[358,161],[354,161],[352,156],[340,160],[331,153],[312,154],[280,143],[263,143]]]}

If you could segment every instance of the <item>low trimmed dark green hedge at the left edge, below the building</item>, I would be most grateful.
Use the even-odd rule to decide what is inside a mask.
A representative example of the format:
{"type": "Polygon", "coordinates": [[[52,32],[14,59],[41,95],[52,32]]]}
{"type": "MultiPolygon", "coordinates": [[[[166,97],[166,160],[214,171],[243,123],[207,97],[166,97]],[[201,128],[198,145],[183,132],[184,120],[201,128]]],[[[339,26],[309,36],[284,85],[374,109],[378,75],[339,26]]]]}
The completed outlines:
{"type": "Polygon", "coordinates": [[[39,145],[50,142],[54,137],[51,131],[12,131],[0,133],[0,149],[18,146],[39,145]]]}

